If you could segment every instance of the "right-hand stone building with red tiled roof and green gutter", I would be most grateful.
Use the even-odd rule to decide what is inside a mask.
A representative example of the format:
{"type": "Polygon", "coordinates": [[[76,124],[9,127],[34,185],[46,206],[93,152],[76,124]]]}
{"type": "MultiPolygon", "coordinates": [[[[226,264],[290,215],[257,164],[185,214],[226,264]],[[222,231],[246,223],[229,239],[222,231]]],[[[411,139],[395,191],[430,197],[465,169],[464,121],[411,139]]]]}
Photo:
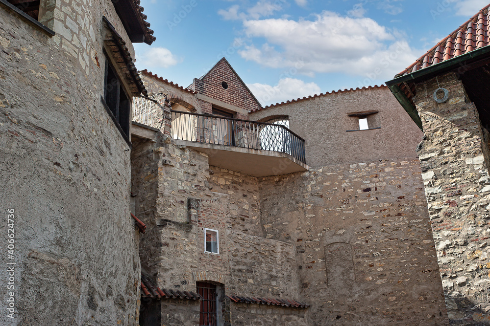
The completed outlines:
{"type": "Polygon", "coordinates": [[[417,153],[451,325],[490,325],[489,15],[387,82],[425,134],[417,153]]]}

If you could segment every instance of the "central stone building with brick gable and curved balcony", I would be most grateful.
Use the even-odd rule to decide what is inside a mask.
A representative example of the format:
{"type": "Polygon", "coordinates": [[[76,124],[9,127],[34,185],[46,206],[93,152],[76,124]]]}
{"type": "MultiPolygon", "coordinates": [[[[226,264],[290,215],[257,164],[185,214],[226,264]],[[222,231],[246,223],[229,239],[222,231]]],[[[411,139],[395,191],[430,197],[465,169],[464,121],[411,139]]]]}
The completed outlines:
{"type": "Polygon", "coordinates": [[[224,58],[187,88],[141,76],[141,325],[448,323],[423,134],[388,87],[262,108],[224,58]]]}

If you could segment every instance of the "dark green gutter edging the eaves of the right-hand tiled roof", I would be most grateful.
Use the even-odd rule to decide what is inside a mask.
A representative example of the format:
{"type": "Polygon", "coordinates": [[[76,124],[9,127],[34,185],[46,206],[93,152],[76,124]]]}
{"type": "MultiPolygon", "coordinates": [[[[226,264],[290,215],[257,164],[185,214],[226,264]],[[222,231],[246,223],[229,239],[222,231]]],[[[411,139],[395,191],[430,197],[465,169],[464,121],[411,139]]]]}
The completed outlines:
{"type": "Polygon", "coordinates": [[[406,82],[417,83],[454,70],[458,70],[458,73],[463,74],[469,69],[468,67],[466,67],[466,65],[488,60],[488,56],[485,56],[484,58],[478,57],[489,53],[490,45],[487,45],[471,52],[440,62],[439,64],[431,65],[427,68],[423,68],[415,72],[396,77],[386,82],[385,84],[386,86],[388,86],[388,88],[390,88],[394,97],[398,100],[403,109],[405,109],[412,120],[414,120],[418,128],[423,131],[422,120],[420,120],[420,117],[418,116],[417,109],[407,98],[407,95],[405,95],[405,93],[400,89],[400,85],[406,82]],[[459,68],[463,69],[463,71],[459,71],[459,68]]]}

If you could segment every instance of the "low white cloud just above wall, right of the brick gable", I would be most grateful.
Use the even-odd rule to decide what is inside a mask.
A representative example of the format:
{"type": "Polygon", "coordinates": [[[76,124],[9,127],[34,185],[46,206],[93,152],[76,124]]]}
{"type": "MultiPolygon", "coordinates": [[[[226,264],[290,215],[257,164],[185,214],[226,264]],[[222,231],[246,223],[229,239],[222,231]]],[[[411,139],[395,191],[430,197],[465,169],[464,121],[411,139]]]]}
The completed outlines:
{"type": "Polygon", "coordinates": [[[263,106],[320,93],[317,84],[295,78],[283,78],[275,86],[255,83],[248,85],[248,88],[263,106]]]}

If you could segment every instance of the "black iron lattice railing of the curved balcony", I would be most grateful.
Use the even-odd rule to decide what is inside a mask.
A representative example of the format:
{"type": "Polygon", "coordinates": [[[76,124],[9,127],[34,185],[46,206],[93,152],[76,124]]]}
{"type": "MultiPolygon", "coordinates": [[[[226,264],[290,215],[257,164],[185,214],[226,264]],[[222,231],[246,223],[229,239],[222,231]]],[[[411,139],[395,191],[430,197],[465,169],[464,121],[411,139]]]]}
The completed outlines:
{"type": "Polygon", "coordinates": [[[283,152],[306,164],[305,141],[285,126],[171,110],[172,138],[283,152]]]}

